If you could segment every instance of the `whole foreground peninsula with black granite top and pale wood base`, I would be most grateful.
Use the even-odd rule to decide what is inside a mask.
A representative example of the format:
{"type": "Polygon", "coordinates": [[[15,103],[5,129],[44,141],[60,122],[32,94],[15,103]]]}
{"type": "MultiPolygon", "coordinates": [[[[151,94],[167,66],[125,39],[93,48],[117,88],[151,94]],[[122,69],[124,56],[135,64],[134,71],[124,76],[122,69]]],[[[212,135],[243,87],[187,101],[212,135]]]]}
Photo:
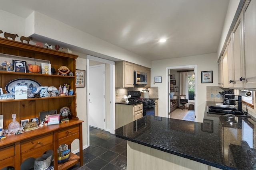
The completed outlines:
{"type": "MultiPolygon", "coordinates": [[[[207,102],[206,105],[214,105],[207,102]]],[[[203,123],[147,115],[116,129],[128,169],[256,169],[254,118],[205,112],[203,123]]]]}

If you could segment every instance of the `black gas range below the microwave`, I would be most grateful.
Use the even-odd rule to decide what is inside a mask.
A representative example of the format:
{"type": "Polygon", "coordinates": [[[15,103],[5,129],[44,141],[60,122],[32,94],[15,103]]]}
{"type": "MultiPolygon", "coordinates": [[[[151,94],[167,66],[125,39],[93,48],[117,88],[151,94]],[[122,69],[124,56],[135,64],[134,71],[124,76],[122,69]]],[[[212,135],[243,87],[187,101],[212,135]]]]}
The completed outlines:
{"type": "Polygon", "coordinates": [[[128,91],[129,103],[142,102],[143,104],[143,116],[145,115],[155,115],[155,100],[150,98],[141,98],[140,91],[128,91]]]}

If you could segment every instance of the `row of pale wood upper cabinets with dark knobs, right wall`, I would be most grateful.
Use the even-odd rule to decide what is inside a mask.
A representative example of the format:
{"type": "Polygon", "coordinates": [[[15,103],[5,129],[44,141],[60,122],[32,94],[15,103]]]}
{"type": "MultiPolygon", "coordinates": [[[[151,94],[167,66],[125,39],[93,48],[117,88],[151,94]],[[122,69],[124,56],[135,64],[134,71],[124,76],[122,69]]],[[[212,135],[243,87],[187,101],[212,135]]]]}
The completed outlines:
{"type": "MultiPolygon", "coordinates": [[[[227,42],[228,64],[222,63],[222,68],[228,65],[229,88],[256,89],[255,18],[256,1],[247,0],[227,42]]],[[[224,76],[224,72],[223,70],[222,76],[224,76]]]]}

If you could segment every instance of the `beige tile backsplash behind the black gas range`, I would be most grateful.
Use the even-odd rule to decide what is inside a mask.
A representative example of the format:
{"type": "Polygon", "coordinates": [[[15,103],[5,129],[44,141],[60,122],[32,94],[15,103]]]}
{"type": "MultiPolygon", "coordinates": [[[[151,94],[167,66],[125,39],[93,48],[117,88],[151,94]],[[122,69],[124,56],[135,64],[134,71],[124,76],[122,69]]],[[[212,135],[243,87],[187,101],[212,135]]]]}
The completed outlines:
{"type": "MultiPolygon", "coordinates": [[[[116,88],[116,98],[115,102],[126,101],[124,95],[127,95],[128,91],[140,91],[145,90],[145,88],[116,88]]],[[[158,98],[158,87],[150,87],[149,98],[158,98]]],[[[143,98],[143,95],[141,96],[143,98]]]]}

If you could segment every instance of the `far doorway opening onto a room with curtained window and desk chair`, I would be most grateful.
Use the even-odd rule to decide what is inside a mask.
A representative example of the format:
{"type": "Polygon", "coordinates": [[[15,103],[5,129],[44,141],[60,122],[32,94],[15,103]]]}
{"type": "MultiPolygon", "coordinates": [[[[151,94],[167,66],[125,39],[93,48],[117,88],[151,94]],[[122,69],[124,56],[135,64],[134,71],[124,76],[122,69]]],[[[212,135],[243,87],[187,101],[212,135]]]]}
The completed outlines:
{"type": "MultiPolygon", "coordinates": [[[[198,109],[197,109],[197,65],[188,65],[188,66],[174,66],[166,68],[166,72],[168,73],[167,83],[168,87],[168,117],[171,117],[171,114],[178,112],[184,112],[184,116],[190,111],[194,112],[194,121],[198,121],[198,109]],[[180,78],[180,72],[187,72],[187,78],[180,78]],[[181,80],[182,79],[182,80],[181,80]],[[186,80],[184,82],[184,80],[186,80]],[[186,84],[186,85],[184,85],[186,84]],[[184,106],[180,104],[180,95],[182,95],[182,99],[185,96],[185,100],[187,100],[184,106]],[[184,95],[184,96],[183,96],[184,95]],[[191,107],[189,107],[191,106],[191,107]],[[192,107],[193,106],[193,107],[192,107]]],[[[182,77],[184,74],[182,75],[182,77]]],[[[182,101],[184,102],[184,100],[182,101]]],[[[183,116],[183,117],[184,117],[183,116]]],[[[178,119],[182,119],[183,117],[178,116],[178,119]]]]}

